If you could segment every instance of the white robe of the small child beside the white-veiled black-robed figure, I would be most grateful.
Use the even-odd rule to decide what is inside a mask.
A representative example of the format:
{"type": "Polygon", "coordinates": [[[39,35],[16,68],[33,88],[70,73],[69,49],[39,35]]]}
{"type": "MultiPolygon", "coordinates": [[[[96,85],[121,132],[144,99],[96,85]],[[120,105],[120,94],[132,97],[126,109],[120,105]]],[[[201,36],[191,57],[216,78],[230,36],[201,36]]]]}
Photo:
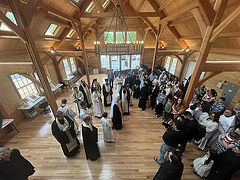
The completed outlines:
{"type": "Polygon", "coordinates": [[[106,142],[114,142],[112,133],[112,124],[109,119],[102,117],[101,124],[103,126],[103,138],[106,142]]]}

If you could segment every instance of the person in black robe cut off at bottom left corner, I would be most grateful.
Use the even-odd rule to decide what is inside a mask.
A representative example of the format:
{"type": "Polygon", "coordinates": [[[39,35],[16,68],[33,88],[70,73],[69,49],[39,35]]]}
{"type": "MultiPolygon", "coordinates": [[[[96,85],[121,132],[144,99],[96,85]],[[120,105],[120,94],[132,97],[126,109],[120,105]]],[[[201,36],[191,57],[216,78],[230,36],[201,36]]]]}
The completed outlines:
{"type": "Polygon", "coordinates": [[[0,159],[1,180],[27,180],[35,172],[34,166],[18,149],[0,147],[0,159]]]}

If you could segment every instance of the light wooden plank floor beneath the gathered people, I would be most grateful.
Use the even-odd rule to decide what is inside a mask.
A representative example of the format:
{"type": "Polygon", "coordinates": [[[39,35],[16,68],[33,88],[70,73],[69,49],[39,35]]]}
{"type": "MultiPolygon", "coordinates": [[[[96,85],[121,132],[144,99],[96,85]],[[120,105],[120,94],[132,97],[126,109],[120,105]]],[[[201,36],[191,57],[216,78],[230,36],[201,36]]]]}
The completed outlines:
{"type": "MultiPolygon", "coordinates": [[[[106,75],[95,75],[102,82],[106,75]]],[[[58,99],[67,98],[69,105],[75,109],[69,90],[58,99]]],[[[24,120],[18,124],[19,134],[10,132],[0,143],[21,151],[35,167],[36,173],[30,179],[65,180],[65,179],[152,179],[159,166],[153,161],[158,156],[164,128],[162,120],[156,118],[151,109],[141,111],[137,101],[130,107],[129,116],[124,116],[123,129],[114,130],[116,143],[103,141],[102,127],[99,119],[93,119],[99,132],[101,158],[95,162],[85,159],[82,137],[79,135],[80,153],[73,158],[66,158],[60,144],[51,133],[52,114],[40,115],[33,120],[24,120]]],[[[105,111],[109,112],[110,108],[105,111]]],[[[80,120],[77,118],[80,123],[80,120]]],[[[188,144],[183,155],[184,173],[182,179],[200,179],[192,175],[190,167],[193,159],[203,155],[195,145],[188,144]]]]}

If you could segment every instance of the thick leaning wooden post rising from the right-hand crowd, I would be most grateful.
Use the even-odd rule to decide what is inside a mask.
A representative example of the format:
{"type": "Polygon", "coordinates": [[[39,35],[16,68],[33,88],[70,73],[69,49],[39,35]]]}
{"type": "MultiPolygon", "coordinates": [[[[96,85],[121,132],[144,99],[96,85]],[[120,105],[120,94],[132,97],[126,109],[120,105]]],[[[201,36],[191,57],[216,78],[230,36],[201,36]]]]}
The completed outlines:
{"type": "MultiPolygon", "coordinates": [[[[210,43],[210,39],[212,36],[212,32],[214,30],[214,28],[221,22],[224,10],[227,6],[227,0],[222,0],[222,1],[216,1],[215,3],[215,11],[216,13],[214,14],[213,17],[213,23],[210,23],[210,25],[208,25],[207,30],[205,32],[202,44],[201,44],[201,48],[199,51],[199,55],[198,55],[198,59],[196,62],[196,66],[194,68],[194,72],[192,74],[186,95],[185,95],[185,99],[184,99],[184,106],[187,107],[189,102],[191,101],[194,91],[197,88],[197,82],[199,81],[200,75],[202,73],[202,71],[204,70],[204,65],[206,63],[206,59],[208,57],[208,54],[210,52],[211,49],[211,45],[212,43],[210,43]]],[[[209,7],[210,8],[210,7],[209,7]]],[[[209,18],[210,19],[210,18],[209,18]]],[[[212,18],[211,18],[212,19],[212,18]]]]}

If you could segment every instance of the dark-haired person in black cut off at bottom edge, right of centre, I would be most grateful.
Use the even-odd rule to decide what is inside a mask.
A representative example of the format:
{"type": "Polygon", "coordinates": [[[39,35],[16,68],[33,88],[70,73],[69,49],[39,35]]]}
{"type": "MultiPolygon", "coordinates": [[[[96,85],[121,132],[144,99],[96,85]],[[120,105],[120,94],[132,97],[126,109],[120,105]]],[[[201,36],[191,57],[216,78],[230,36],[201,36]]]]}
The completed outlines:
{"type": "Polygon", "coordinates": [[[153,180],[181,180],[184,166],[179,153],[170,152],[169,159],[162,163],[153,180]]]}

